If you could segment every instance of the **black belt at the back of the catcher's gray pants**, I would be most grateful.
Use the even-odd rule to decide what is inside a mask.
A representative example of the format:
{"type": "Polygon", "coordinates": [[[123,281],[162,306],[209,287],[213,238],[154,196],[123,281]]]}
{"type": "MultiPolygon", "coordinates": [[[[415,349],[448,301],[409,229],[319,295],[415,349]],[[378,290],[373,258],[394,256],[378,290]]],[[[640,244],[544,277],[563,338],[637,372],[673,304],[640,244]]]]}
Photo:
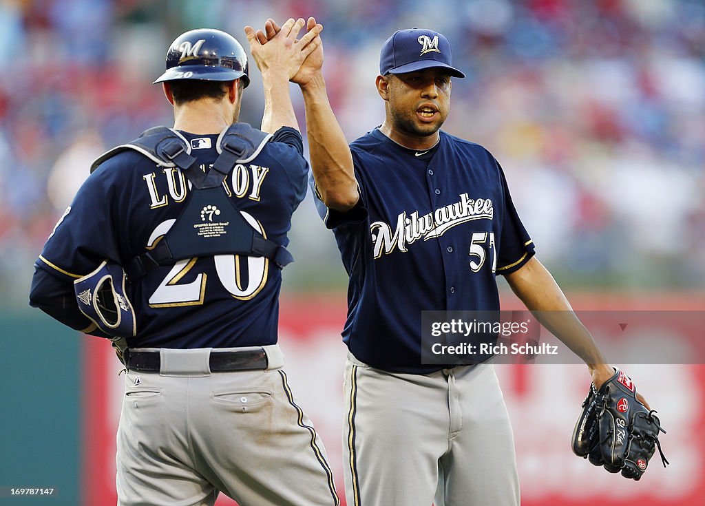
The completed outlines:
{"type": "MultiPolygon", "coordinates": [[[[154,372],[160,370],[159,352],[136,352],[125,350],[125,366],[131,371],[154,372]]],[[[213,350],[208,361],[211,372],[256,371],[266,369],[267,359],[264,349],[219,352],[213,350]]]]}

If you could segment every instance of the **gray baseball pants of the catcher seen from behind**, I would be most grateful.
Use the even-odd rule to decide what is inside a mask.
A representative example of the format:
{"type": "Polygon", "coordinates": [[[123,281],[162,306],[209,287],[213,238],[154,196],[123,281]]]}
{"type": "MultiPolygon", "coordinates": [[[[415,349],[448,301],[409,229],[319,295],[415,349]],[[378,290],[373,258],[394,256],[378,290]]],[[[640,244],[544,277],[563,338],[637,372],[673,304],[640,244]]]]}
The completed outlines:
{"type": "Polygon", "coordinates": [[[161,350],[159,373],[127,372],[118,505],[212,506],[219,491],[240,506],[339,504],[281,350],[264,349],[266,370],[211,373],[209,350],[161,350]]]}

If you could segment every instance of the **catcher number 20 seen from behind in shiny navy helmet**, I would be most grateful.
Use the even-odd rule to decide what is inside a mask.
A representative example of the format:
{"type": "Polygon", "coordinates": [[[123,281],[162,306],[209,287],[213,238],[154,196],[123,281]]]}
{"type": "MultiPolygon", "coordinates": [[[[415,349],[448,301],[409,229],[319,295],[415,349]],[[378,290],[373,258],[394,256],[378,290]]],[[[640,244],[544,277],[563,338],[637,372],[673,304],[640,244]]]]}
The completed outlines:
{"type": "Polygon", "coordinates": [[[238,123],[247,56],[191,30],[161,82],[174,127],[104,154],[35,263],[30,304],[110,338],[127,369],[120,505],[338,505],[277,343],[281,268],[307,163],[288,80],[319,44],[288,20],[266,47],[262,130],[238,123]],[[125,277],[125,273],[127,276],[125,277]]]}

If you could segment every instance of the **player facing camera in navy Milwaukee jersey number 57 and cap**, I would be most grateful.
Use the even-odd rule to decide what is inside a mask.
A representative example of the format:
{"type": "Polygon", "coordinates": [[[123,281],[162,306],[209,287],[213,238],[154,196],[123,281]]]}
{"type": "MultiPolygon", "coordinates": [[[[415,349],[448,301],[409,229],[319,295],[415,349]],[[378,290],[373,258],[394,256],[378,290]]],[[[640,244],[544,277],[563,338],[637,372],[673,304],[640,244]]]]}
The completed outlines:
{"type": "Polygon", "coordinates": [[[536,259],[494,156],[439,130],[451,78],[464,77],[448,39],[414,28],[385,42],[376,78],[384,123],[349,147],[322,63],[321,46],[292,80],[305,101],[317,206],[350,276],[348,505],[518,505],[494,366],[424,364],[422,311],[497,311],[501,274],[529,309],[563,311],[542,323],[584,359],[598,388],[613,370],[536,259]]]}

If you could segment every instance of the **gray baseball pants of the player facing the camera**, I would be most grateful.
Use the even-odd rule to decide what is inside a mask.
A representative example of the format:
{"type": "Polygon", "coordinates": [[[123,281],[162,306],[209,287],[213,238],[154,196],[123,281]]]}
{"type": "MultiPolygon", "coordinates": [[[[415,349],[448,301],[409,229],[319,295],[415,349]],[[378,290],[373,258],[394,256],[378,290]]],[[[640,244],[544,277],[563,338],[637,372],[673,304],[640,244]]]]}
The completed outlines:
{"type": "Polygon", "coordinates": [[[348,506],[519,505],[493,364],[396,374],[349,353],[344,413],[348,506]]]}

